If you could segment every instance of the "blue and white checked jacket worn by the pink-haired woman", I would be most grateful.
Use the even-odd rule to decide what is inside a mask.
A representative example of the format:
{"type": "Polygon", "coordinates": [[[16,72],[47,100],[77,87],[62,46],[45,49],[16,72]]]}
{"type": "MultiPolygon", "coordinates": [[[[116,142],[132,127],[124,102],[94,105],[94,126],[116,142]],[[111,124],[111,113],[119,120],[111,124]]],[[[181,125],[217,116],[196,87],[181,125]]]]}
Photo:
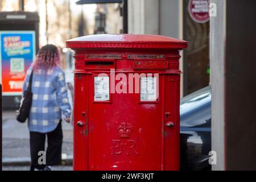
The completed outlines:
{"type": "MultiPolygon", "coordinates": [[[[32,67],[28,68],[23,85],[27,90],[32,67]]],[[[68,101],[68,91],[65,84],[65,73],[56,67],[47,73],[42,70],[33,72],[32,106],[28,118],[28,129],[39,133],[49,133],[56,129],[61,119],[61,111],[65,117],[70,117],[71,106],[68,101]]]]}

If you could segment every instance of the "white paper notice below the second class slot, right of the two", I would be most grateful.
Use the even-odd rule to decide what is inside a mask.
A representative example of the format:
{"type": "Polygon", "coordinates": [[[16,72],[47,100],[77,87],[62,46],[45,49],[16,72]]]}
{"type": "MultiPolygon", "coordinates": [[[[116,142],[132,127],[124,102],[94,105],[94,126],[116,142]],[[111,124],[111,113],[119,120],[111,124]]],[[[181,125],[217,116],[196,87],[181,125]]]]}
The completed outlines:
{"type": "Polygon", "coordinates": [[[141,77],[141,101],[156,101],[156,77],[141,77]]]}

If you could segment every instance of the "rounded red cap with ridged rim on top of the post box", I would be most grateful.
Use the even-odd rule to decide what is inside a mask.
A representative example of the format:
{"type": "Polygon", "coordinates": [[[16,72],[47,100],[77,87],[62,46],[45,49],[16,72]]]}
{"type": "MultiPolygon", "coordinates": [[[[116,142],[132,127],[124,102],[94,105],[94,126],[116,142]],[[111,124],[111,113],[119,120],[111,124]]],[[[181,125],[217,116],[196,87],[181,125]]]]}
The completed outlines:
{"type": "Polygon", "coordinates": [[[184,49],[188,42],[162,35],[97,34],[66,41],[69,48],[174,48],[184,49]]]}

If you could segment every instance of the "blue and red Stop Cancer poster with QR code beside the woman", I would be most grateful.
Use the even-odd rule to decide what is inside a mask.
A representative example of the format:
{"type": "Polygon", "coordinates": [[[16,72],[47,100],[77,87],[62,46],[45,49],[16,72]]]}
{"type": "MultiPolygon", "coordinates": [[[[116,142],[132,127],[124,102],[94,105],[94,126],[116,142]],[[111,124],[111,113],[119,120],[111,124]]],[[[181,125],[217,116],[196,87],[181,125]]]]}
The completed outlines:
{"type": "Polygon", "coordinates": [[[35,57],[35,31],[0,31],[0,83],[3,96],[20,96],[35,57]]]}

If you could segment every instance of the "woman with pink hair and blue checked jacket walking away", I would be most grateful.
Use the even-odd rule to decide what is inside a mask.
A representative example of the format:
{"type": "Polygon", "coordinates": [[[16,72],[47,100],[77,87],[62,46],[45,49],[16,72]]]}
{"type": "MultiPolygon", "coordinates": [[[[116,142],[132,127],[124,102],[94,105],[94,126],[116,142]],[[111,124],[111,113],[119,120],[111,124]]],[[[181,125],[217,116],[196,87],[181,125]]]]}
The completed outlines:
{"type": "Polygon", "coordinates": [[[24,80],[23,94],[31,74],[33,75],[32,106],[28,118],[31,171],[50,171],[51,166],[61,163],[61,113],[64,120],[70,122],[71,106],[68,102],[65,74],[59,65],[60,53],[57,47],[47,44],[39,50],[24,80]],[[48,146],[44,155],[46,135],[48,146]],[[46,156],[46,160],[42,156],[46,156]]]}

